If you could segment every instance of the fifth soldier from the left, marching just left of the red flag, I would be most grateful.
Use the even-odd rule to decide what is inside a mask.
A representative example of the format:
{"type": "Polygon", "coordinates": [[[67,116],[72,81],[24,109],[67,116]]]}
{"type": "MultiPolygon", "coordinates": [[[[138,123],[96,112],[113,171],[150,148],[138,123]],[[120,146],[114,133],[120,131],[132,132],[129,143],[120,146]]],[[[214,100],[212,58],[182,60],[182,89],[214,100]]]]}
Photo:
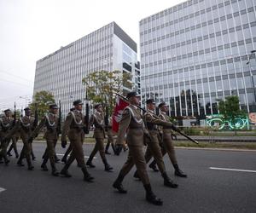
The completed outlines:
{"type": "Polygon", "coordinates": [[[103,116],[103,110],[101,104],[95,105],[96,112],[90,117],[90,124],[94,124],[94,134],[93,137],[96,140],[96,144],[92,152],[90,153],[90,158],[86,162],[86,165],[90,166],[90,168],[95,168],[95,165],[92,164],[92,159],[96,155],[96,153],[99,151],[102,162],[105,165],[106,171],[111,171],[113,168],[108,164],[107,158],[104,153],[104,138],[105,138],[105,125],[104,125],[104,116],[103,116]]]}

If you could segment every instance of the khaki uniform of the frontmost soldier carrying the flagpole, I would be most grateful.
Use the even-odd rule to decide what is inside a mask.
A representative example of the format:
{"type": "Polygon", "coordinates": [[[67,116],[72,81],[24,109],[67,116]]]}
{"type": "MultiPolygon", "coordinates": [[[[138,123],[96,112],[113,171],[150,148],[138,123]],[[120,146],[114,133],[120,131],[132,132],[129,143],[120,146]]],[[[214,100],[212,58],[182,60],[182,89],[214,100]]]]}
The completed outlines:
{"type": "Polygon", "coordinates": [[[124,144],[126,130],[126,140],[129,147],[129,153],[127,161],[125,162],[123,168],[120,170],[119,175],[126,176],[135,164],[138,174],[143,181],[143,185],[147,185],[149,184],[149,178],[143,152],[143,118],[140,109],[136,106],[130,105],[129,107],[125,107],[119,124],[119,132],[116,144],[124,144]]]}

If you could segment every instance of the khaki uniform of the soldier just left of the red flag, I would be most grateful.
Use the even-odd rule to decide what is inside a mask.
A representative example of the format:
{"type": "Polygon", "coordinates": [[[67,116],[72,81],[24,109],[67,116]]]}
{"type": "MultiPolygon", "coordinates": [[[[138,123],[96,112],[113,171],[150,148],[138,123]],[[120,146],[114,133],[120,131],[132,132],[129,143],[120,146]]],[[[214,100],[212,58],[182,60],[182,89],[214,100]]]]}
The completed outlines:
{"type": "Polygon", "coordinates": [[[104,152],[104,139],[105,139],[105,124],[104,124],[104,115],[100,112],[95,112],[90,117],[90,124],[95,126],[93,137],[96,140],[96,144],[92,152],[90,153],[90,161],[99,151],[102,161],[105,164],[107,159],[104,152]]]}

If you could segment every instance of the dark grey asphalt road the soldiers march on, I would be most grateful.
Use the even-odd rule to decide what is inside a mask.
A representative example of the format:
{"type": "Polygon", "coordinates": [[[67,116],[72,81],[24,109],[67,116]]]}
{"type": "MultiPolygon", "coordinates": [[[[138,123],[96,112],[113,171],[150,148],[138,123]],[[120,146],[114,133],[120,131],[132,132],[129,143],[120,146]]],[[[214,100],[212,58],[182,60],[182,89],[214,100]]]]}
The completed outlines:
{"type": "MultiPolygon", "coordinates": [[[[72,178],[54,177],[50,171],[40,170],[44,143],[34,143],[37,160],[35,170],[16,166],[11,157],[9,166],[0,165],[0,212],[256,212],[256,172],[211,170],[210,167],[237,170],[256,170],[256,152],[226,152],[177,149],[180,167],[188,178],[173,175],[170,161],[165,157],[166,170],[179,187],[163,186],[160,173],[148,170],[154,193],[164,200],[163,206],[148,204],[143,185],[132,177],[135,169],[125,177],[127,194],[115,192],[111,186],[126,153],[107,156],[114,168],[112,173],[103,169],[99,154],[95,169],[89,169],[96,178],[94,183],[83,181],[76,163],[70,168],[72,178]],[[3,191],[3,189],[5,189],[3,191]]],[[[20,145],[19,145],[20,149],[20,145]]],[[[89,155],[92,145],[84,145],[89,155]]],[[[59,145],[57,153],[65,150],[59,145]]],[[[112,150],[110,150],[112,151],[112,150]]],[[[61,156],[60,156],[61,157],[61,156]]],[[[57,164],[59,170],[63,164],[57,164]]]]}

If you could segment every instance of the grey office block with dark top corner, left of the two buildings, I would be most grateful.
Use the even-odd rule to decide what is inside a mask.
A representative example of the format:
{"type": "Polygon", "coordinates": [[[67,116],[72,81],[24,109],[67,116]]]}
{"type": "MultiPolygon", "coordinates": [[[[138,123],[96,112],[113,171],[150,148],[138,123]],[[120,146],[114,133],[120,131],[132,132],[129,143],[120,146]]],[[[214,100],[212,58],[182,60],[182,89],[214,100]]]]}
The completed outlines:
{"type": "Polygon", "coordinates": [[[130,72],[134,89],[140,93],[139,66],[137,43],[112,22],[38,60],[33,94],[49,91],[67,113],[74,100],[84,99],[82,79],[90,72],[130,72]]]}

